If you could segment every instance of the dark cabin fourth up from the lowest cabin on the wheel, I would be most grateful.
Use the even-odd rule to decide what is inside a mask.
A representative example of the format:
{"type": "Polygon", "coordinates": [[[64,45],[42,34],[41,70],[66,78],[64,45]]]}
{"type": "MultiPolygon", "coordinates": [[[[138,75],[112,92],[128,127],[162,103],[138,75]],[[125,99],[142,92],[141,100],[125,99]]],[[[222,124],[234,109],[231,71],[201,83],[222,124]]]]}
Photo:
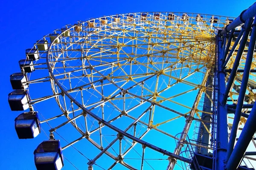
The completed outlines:
{"type": "Polygon", "coordinates": [[[12,89],[23,90],[29,87],[27,73],[14,73],[10,76],[10,82],[12,89]]]}

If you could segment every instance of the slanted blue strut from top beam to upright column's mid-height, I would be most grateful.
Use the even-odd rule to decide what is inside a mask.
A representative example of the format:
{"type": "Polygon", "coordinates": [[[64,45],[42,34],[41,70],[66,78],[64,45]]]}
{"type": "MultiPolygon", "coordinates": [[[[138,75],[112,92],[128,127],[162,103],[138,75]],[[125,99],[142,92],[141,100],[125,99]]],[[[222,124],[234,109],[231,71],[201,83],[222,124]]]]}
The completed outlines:
{"type": "Polygon", "coordinates": [[[245,47],[245,44],[247,42],[247,39],[248,39],[248,36],[249,36],[249,33],[250,33],[251,24],[252,24],[252,18],[248,19],[246,21],[246,23],[244,24],[244,34],[243,34],[241,43],[239,45],[239,49],[238,49],[237,54],[236,54],[236,59],[235,59],[235,62],[233,64],[233,68],[232,68],[229,80],[227,82],[227,87],[226,87],[226,90],[225,90],[225,93],[224,93],[224,99],[222,101],[220,101],[222,103],[227,102],[228,94],[230,92],[231,86],[232,86],[232,84],[234,82],[234,79],[236,77],[236,71],[238,69],[238,66],[239,66],[239,63],[240,63],[240,60],[241,60],[241,56],[244,52],[244,47],[245,47]]]}

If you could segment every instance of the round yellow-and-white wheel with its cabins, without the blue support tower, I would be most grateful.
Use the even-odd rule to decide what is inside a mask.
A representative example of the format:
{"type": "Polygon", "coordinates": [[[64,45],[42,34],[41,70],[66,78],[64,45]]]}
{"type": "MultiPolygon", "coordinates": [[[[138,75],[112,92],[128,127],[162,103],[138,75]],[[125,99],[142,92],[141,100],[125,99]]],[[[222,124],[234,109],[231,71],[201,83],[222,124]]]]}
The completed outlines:
{"type": "Polygon", "coordinates": [[[36,168],[60,170],[66,158],[74,169],[189,169],[195,150],[214,154],[214,141],[195,141],[214,136],[215,35],[233,20],[116,14],[56,29],[26,49],[9,104],[26,111],[15,119],[19,139],[49,136],[34,151],[36,168]]]}

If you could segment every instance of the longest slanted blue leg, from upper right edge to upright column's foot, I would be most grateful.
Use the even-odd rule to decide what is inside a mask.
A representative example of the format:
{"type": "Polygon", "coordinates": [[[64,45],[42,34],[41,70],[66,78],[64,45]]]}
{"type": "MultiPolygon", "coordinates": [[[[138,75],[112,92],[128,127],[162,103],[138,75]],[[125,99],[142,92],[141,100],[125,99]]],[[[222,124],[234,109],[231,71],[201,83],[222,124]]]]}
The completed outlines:
{"type": "MultiPolygon", "coordinates": [[[[246,38],[246,39],[248,38],[250,28],[251,28],[251,23],[252,23],[252,19],[248,19],[246,21],[246,28],[245,28],[245,31],[244,31],[244,37],[243,38],[246,38]]],[[[255,24],[255,20],[254,20],[254,24],[255,24]]],[[[251,67],[251,63],[252,63],[252,59],[253,59],[253,51],[254,51],[254,46],[255,46],[255,29],[253,31],[254,32],[251,35],[249,51],[247,52],[247,58],[246,58],[245,66],[244,66],[244,75],[243,75],[243,79],[242,79],[242,82],[241,82],[240,93],[239,93],[238,102],[237,102],[237,106],[236,106],[236,113],[235,113],[233,126],[232,126],[232,130],[231,130],[231,134],[230,134],[230,141],[229,141],[228,150],[227,150],[227,160],[229,159],[229,157],[230,157],[230,155],[233,151],[234,145],[235,145],[236,133],[237,133],[237,129],[238,129],[238,126],[239,126],[239,121],[240,121],[240,118],[241,118],[241,111],[242,111],[242,108],[243,108],[244,97],[245,97],[247,83],[248,83],[248,79],[249,79],[249,75],[250,75],[250,67],[251,67]]],[[[241,45],[242,45],[243,42],[247,42],[247,40],[242,39],[241,45]]],[[[239,49],[240,49],[240,47],[239,47],[239,49]]],[[[236,56],[236,58],[237,58],[237,56],[236,56]]],[[[238,62],[240,62],[240,59],[241,59],[241,57],[239,57],[238,62]]],[[[237,60],[235,60],[235,63],[236,63],[236,61],[237,60]]],[[[234,63],[234,65],[235,65],[235,63],[234,63]]],[[[239,65],[239,63],[238,63],[238,65],[239,65]]],[[[236,68],[233,67],[233,69],[237,70],[237,67],[236,68]]],[[[233,69],[232,69],[232,72],[234,72],[234,74],[236,74],[236,70],[233,71],[233,69]]],[[[232,74],[232,72],[231,72],[231,74],[232,74]]],[[[232,83],[233,83],[233,81],[232,81],[232,83]]]]}

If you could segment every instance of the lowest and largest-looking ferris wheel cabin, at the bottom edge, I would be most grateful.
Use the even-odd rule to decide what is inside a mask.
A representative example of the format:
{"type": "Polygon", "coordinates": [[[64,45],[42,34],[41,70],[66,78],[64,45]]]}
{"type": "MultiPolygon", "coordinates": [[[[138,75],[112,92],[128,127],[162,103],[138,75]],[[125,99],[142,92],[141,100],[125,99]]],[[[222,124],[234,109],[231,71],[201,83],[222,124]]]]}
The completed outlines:
{"type": "Polygon", "coordinates": [[[34,151],[37,170],[60,170],[64,166],[59,140],[44,141],[34,151]]]}

